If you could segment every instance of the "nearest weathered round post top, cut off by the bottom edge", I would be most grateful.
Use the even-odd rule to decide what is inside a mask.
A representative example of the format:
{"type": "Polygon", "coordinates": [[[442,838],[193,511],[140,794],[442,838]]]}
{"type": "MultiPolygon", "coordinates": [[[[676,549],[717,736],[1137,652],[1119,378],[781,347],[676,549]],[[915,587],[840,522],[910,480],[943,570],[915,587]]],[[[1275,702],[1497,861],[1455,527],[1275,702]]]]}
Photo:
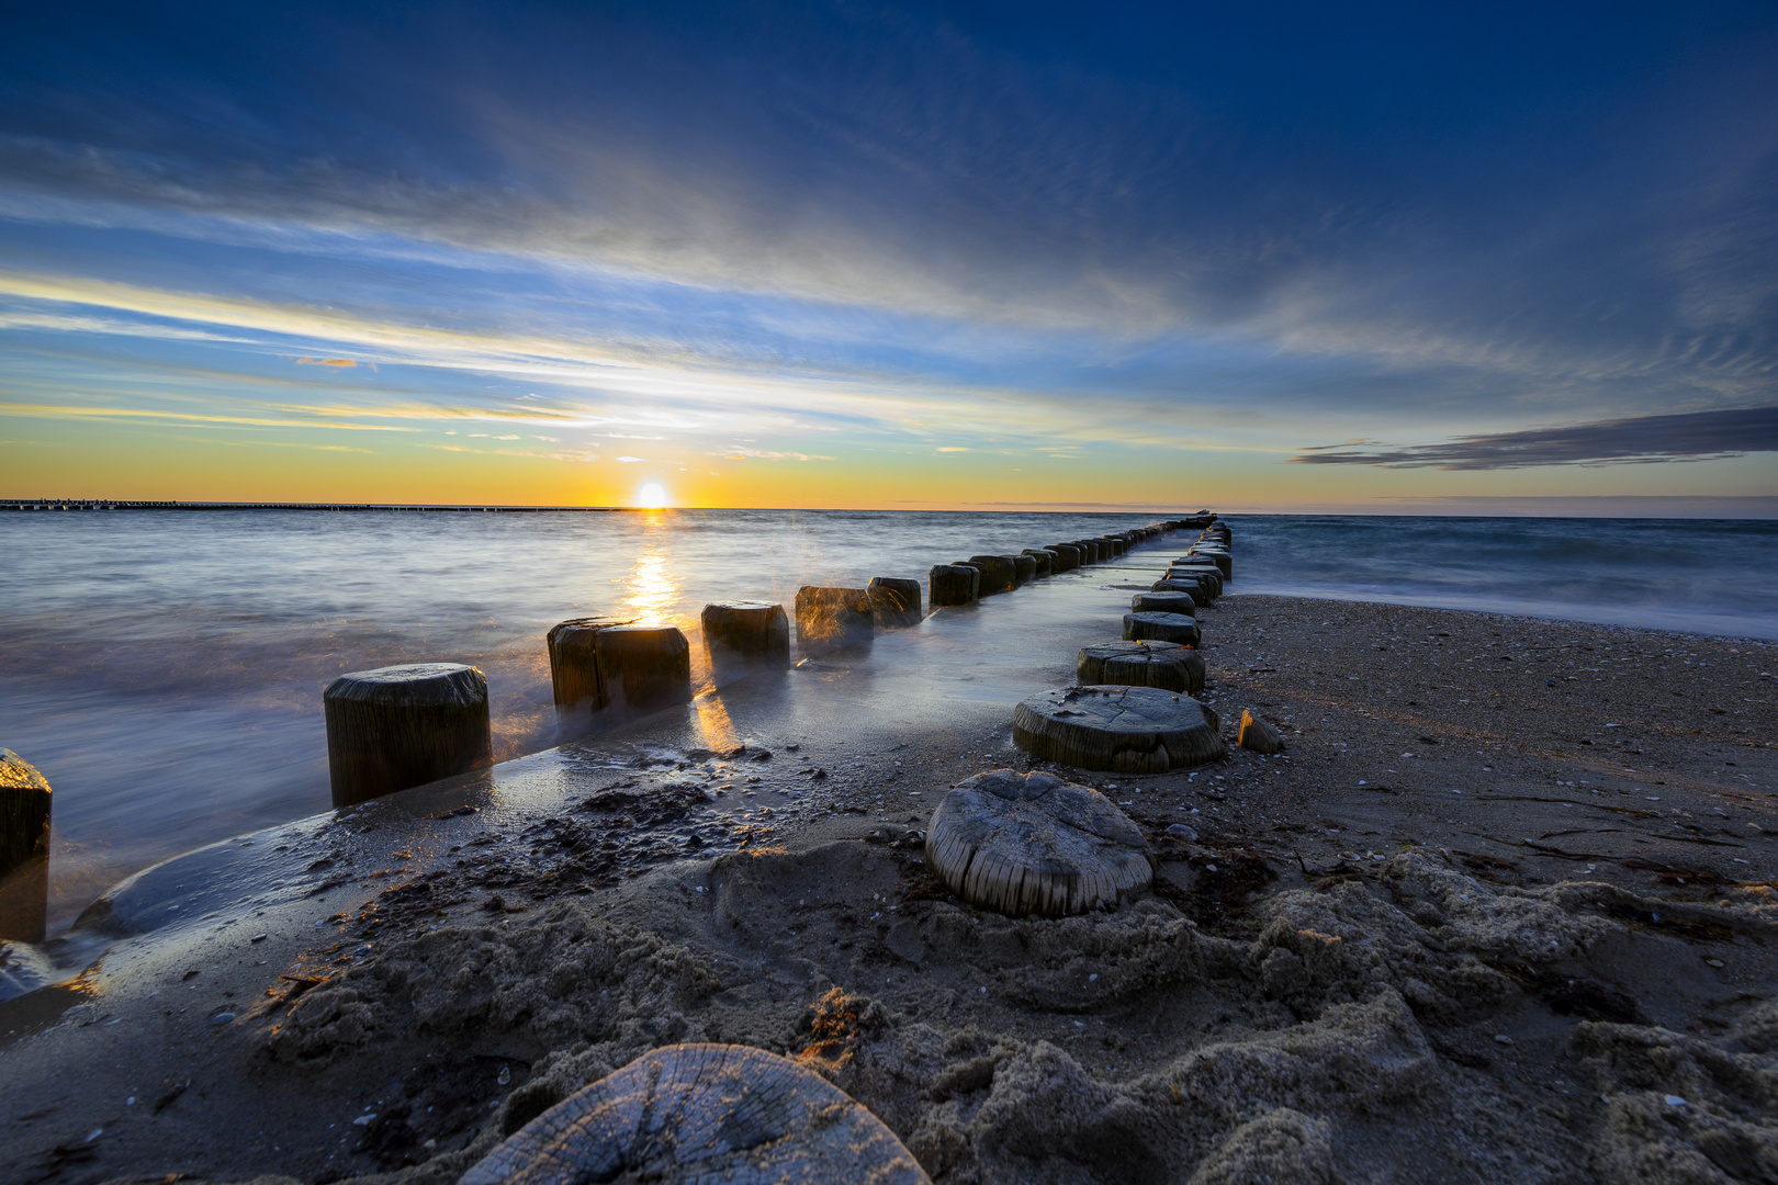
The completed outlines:
{"type": "Polygon", "coordinates": [[[459,1185],[930,1185],[884,1123],[816,1071],[745,1045],[669,1045],[526,1123],[459,1185]]]}

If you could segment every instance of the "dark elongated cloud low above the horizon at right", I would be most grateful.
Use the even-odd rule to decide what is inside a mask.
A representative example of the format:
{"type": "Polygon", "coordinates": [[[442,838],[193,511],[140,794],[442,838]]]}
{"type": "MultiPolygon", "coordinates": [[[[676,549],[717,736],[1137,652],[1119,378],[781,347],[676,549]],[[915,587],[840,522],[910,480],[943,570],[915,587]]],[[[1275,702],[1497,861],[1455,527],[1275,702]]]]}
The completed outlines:
{"type": "Polygon", "coordinates": [[[1778,407],[1673,416],[1630,416],[1470,435],[1444,444],[1389,448],[1378,442],[1323,444],[1291,457],[1298,465],[1378,469],[1526,469],[1533,465],[1646,465],[1778,451],[1778,407]]]}

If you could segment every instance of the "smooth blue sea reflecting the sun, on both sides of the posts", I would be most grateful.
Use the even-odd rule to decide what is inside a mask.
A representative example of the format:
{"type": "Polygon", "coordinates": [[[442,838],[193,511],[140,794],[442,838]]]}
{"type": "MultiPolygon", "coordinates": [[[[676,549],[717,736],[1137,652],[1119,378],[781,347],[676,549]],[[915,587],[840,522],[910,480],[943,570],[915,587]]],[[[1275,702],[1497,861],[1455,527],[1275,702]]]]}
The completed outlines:
{"type": "MultiPolygon", "coordinates": [[[[1177,513],[1189,513],[1186,510],[1177,513]]],[[[695,629],[711,600],[925,579],[1154,513],[96,510],[0,513],[0,746],[55,791],[50,929],[181,851],[329,808],[322,688],[487,673],[496,757],[564,739],[544,632],[695,629]]],[[[1778,522],[1237,515],[1230,593],[1778,638],[1778,522]]],[[[1156,567],[1181,551],[1152,542],[1156,567]]],[[[693,647],[693,654],[697,648],[693,647]]]]}

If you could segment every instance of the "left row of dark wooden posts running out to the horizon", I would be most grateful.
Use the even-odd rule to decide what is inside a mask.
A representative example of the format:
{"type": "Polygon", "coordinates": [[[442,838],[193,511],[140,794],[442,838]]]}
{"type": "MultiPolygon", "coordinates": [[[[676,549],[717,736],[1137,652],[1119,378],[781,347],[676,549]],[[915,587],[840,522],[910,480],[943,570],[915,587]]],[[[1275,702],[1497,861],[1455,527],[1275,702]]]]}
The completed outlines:
{"type": "MultiPolygon", "coordinates": [[[[1115,535],[981,554],[935,565],[926,606],[981,597],[1122,556],[1163,531],[1211,526],[1214,515],[1173,519],[1115,535]]],[[[1227,560],[1223,560],[1227,576],[1227,560]]],[[[1184,577],[1184,572],[1181,572],[1184,577]]],[[[921,585],[873,579],[864,588],[797,590],[797,647],[825,654],[869,645],[880,631],[923,620],[921,585]]],[[[781,604],[704,606],[704,648],[713,672],[784,666],[791,622],[781,604]]],[[[672,625],[610,616],[562,622],[546,636],[555,702],[564,711],[621,705],[649,711],[692,698],[692,647],[672,625]]],[[[487,679],[459,663],[411,663],[354,672],[322,695],[334,807],[437,782],[493,760],[487,679]]],[[[48,901],[50,785],[25,759],[0,750],[0,938],[41,942],[48,901]]]]}

